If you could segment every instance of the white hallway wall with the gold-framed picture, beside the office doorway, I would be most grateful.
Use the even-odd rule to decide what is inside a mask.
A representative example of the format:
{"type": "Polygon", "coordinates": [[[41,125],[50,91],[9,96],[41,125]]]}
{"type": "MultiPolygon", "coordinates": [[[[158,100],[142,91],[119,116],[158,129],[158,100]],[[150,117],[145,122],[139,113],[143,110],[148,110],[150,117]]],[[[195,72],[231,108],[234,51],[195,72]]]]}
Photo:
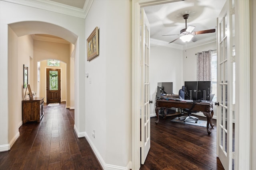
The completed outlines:
{"type": "Polygon", "coordinates": [[[130,23],[129,0],[96,0],[86,17],[86,38],[99,28],[99,55],[85,67],[86,133],[105,168],[126,168],[132,159],[130,23]]]}

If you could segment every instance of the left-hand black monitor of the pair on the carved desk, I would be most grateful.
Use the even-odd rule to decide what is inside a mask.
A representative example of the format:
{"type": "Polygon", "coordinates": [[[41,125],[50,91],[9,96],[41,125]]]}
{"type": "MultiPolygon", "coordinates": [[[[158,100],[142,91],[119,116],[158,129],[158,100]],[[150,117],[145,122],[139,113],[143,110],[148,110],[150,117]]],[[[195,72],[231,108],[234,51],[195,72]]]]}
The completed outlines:
{"type": "Polygon", "coordinates": [[[185,100],[197,100],[197,82],[196,81],[185,82],[184,92],[185,92],[184,94],[185,100]]]}

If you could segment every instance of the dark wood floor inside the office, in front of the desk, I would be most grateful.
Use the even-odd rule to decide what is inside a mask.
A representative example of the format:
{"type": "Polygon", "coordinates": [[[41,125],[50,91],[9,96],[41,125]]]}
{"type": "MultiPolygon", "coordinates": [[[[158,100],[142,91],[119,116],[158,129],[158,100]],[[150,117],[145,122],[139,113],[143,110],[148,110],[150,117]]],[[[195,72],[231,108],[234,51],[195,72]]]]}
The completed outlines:
{"type": "Polygon", "coordinates": [[[140,170],[224,170],[216,157],[216,127],[208,135],[206,127],[171,122],[175,117],[160,118],[158,125],[151,118],[151,147],[140,170]]]}

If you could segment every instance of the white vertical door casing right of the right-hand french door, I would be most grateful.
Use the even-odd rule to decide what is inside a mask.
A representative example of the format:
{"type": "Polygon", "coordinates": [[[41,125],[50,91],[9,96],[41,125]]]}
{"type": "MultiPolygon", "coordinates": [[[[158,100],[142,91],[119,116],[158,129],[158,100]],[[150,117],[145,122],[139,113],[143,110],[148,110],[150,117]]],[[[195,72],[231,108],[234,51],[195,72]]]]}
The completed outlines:
{"type": "Polygon", "coordinates": [[[250,2],[235,0],[235,169],[251,169],[250,2]],[[246,25],[246,26],[244,26],[246,25]],[[241,68],[241,69],[240,69],[241,68]],[[249,102],[248,102],[249,101],[249,102]],[[239,114],[242,113],[242,114],[239,114]]]}

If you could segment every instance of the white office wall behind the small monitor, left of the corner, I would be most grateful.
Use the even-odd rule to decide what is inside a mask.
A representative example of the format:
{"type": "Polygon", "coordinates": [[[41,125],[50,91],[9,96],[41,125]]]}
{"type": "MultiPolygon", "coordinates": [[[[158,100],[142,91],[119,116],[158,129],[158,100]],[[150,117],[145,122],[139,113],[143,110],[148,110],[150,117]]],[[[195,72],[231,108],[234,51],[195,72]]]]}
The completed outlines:
{"type": "Polygon", "coordinates": [[[182,50],[151,45],[150,47],[150,115],[155,116],[158,82],[173,82],[173,93],[178,94],[183,85],[182,50]]]}

